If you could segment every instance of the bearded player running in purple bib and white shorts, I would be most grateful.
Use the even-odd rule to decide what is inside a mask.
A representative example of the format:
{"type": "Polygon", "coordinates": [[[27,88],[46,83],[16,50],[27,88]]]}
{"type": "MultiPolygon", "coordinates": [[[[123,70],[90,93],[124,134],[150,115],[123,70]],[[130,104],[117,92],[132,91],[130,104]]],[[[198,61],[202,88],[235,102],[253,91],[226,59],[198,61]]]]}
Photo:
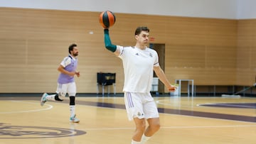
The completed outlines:
{"type": "Polygon", "coordinates": [[[78,123],[80,120],[75,117],[76,85],[74,77],[75,75],[80,77],[80,72],[76,72],[78,66],[78,46],[76,44],[70,45],[68,52],[68,57],[65,57],[58,67],[60,75],[58,77],[57,94],[48,95],[44,93],[41,98],[41,106],[49,100],[63,101],[65,95],[68,93],[70,98],[70,122],[78,123]]]}

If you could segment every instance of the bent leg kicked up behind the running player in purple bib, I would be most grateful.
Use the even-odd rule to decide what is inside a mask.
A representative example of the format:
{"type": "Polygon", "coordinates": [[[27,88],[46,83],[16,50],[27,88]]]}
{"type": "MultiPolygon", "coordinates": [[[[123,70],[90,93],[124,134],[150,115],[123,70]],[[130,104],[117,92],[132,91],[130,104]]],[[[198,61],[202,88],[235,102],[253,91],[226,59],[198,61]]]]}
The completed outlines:
{"type": "Polygon", "coordinates": [[[65,94],[67,93],[68,85],[67,84],[58,84],[57,87],[57,94],[47,94],[44,93],[43,96],[41,97],[41,106],[46,103],[46,101],[63,101],[65,98],[65,94]]]}

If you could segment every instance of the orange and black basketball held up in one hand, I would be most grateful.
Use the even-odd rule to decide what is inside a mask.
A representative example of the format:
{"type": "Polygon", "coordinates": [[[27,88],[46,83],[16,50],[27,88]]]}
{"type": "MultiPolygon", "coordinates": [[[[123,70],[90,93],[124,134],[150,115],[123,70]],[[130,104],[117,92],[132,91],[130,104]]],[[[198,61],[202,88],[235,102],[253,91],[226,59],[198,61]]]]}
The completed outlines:
{"type": "Polygon", "coordinates": [[[115,22],[115,16],[112,11],[102,11],[100,13],[100,24],[103,28],[110,28],[115,22]]]}

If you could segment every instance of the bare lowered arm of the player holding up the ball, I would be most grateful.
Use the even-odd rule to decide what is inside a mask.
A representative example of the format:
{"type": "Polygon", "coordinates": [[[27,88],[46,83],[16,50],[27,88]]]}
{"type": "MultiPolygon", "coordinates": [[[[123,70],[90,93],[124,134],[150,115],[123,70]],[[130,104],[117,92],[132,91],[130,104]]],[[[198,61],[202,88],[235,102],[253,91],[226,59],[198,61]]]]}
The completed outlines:
{"type": "Polygon", "coordinates": [[[154,67],[154,72],[156,72],[156,76],[159,77],[161,82],[164,83],[164,85],[170,92],[175,91],[176,86],[170,84],[169,80],[166,77],[166,74],[164,73],[160,66],[154,67]]]}

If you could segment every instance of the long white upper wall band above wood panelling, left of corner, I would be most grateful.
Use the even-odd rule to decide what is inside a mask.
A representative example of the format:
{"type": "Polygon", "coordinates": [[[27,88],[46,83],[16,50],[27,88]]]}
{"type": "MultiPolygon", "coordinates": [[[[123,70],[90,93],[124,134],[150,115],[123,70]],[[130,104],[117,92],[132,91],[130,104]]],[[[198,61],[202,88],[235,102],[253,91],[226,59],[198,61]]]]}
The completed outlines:
{"type": "Polygon", "coordinates": [[[238,9],[236,1],[238,0],[0,0],[0,6],[235,19],[238,9]]]}

